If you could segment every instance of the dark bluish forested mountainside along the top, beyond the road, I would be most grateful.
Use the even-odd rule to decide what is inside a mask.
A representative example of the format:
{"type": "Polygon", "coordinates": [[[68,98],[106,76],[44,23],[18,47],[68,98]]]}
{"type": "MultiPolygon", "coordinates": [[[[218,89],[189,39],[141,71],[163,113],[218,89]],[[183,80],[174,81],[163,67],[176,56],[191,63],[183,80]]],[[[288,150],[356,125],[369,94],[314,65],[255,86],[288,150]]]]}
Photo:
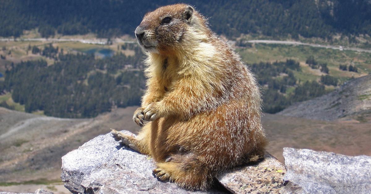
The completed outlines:
{"type": "Polygon", "coordinates": [[[36,27],[43,37],[132,34],[147,11],[179,2],[194,5],[209,17],[216,33],[229,37],[240,33],[294,38],[371,34],[369,0],[1,0],[0,36],[18,37],[36,27]]]}

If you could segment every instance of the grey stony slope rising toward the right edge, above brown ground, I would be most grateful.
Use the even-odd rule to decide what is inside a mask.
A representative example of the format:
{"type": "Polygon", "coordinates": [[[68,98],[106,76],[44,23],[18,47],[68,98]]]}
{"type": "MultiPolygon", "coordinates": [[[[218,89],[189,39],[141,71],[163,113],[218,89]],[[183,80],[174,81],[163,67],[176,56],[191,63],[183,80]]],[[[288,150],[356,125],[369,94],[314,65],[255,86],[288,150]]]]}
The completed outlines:
{"type": "Polygon", "coordinates": [[[324,121],[371,116],[371,75],[352,79],[334,92],[295,103],[278,114],[324,121]]]}

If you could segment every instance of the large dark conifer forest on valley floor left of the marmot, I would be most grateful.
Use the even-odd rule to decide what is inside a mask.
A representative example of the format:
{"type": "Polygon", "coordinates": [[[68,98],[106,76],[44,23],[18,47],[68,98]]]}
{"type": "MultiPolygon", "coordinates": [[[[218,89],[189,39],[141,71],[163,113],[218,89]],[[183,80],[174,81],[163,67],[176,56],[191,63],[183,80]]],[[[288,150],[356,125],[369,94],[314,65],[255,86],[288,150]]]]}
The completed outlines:
{"type": "MultiPolygon", "coordinates": [[[[142,53],[95,59],[92,54],[55,55],[55,63],[31,60],[9,67],[0,91],[12,91],[26,112],[64,118],[90,118],[114,107],[139,105],[145,89],[142,53]],[[1,89],[3,85],[3,89],[1,89]]],[[[53,46],[40,51],[50,55],[53,46]],[[51,49],[52,48],[52,49],[51,49]]]]}

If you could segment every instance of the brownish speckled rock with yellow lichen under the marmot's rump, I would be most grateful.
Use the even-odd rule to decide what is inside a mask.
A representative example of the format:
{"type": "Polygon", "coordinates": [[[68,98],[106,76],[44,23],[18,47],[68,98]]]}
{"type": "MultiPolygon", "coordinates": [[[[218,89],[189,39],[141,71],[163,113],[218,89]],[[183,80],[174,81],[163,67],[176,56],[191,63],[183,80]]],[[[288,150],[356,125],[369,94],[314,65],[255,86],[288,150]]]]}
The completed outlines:
{"type": "Polygon", "coordinates": [[[262,162],[236,167],[217,179],[232,193],[278,193],[283,187],[285,172],[285,166],[266,153],[262,162]]]}

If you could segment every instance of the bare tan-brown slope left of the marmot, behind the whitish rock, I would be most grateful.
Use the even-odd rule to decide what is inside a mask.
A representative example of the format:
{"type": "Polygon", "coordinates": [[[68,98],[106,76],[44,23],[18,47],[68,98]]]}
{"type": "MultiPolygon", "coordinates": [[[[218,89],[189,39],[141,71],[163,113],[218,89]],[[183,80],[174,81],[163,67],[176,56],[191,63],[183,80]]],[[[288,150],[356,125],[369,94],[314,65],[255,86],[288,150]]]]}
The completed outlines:
{"type": "Polygon", "coordinates": [[[0,107],[0,183],[58,180],[61,157],[110,128],[137,131],[136,107],[115,109],[93,119],[62,119],[0,107]]]}

